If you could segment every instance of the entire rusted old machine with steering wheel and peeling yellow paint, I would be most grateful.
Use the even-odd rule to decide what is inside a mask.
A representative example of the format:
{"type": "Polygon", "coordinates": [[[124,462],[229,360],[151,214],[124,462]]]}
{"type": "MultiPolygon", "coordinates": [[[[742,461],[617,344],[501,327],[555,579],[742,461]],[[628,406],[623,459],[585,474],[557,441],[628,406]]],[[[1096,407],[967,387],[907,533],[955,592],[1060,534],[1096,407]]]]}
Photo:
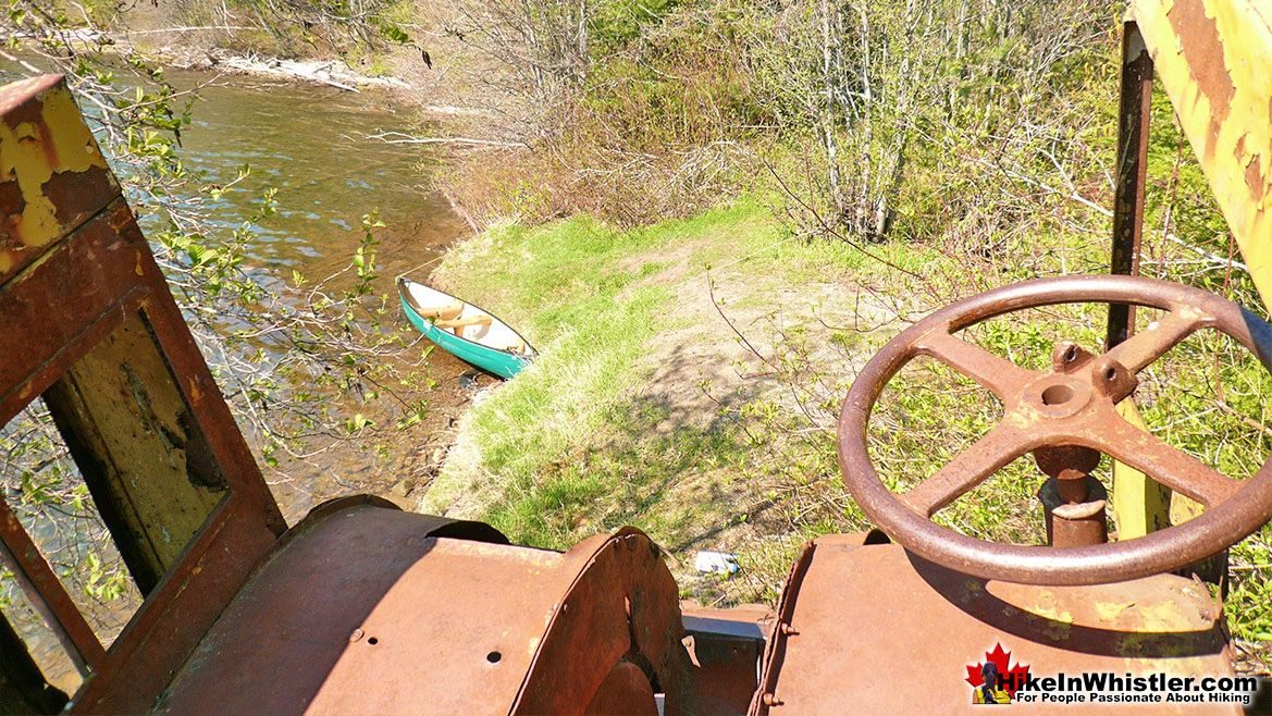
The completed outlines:
{"type": "MultiPolygon", "coordinates": [[[[1142,0],[1132,13],[1144,33],[1128,25],[1113,272],[1135,268],[1156,62],[1267,291],[1272,74],[1248,70],[1272,66],[1268,11],[1142,0]]],[[[1221,604],[1191,571],[1272,516],[1272,468],[1233,481],[1126,412],[1137,374],[1198,329],[1272,362],[1272,327],[1252,313],[1130,276],[1009,286],[901,333],[860,374],[840,421],[845,482],[881,532],[808,544],[776,613],[682,607],[658,548],[630,528],[558,553],[509,544],[481,523],[349,497],[287,529],[65,85],[9,85],[0,423],[43,399],[145,600],[103,646],[0,500],[0,563],[84,677],[75,693],[53,688],[0,619],[0,711],[948,713],[996,698],[995,674],[1028,670],[1004,646],[1040,674],[1231,674],[1221,604]],[[993,315],[1089,301],[1121,306],[1108,350],[1060,342],[1046,371],[957,336],[993,315]],[[1132,334],[1136,305],[1165,314],[1132,334]],[[916,356],[976,379],[1004,417],[893,495],[866,426],[887,382],[916,356]],[[1025,453],[1040,469],[1048,546],[981,542],[931,521],[1025,453]],[[1108,491],[1090,476],[1100,453],[1155,481],[1132,485],[1138,502],[1113,486],[1114,543],[1108,491]],[[1156,483],[1206,511],[1169,527],[1144,497],[1156,483]],[[991,650],[1001,666],[987,665],[991,650]],[[973,689],[973,677],[991,680],[973,689]]]]}

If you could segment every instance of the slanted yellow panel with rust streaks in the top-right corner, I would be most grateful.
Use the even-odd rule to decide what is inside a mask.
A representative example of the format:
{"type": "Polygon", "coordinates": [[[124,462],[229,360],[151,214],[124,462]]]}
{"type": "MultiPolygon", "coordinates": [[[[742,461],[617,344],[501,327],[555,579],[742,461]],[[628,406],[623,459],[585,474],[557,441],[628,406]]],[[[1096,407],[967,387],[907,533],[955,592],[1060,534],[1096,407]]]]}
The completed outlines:
{"type": "Polygon", "coordinates": [[[1267,304],[1272,6],[1258,0],[1132,0],[1130,14],[1267,304]]]}

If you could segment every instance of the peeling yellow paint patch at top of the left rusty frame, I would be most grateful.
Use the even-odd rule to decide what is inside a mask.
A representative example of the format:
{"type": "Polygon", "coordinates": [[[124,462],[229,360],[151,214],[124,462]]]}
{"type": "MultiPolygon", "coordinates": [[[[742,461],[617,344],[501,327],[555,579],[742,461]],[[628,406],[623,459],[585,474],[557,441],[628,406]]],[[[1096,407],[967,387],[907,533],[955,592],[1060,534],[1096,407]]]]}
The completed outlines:
{"type": "MultiPolygon", "coordinates": [[[[107,168],[70,92],[55,86],[39,99],[39,122],[15,127],[0,122],[0,177],[17,178],[25,202],[20,215],[8,217],[10,240],[27,248],[46,245],[62,233],[56,207],[45,196],[45,183],[55,173],[107,168]]],[[[14,253],[0,249],[0,272],[13,267],[14,253]]]]}

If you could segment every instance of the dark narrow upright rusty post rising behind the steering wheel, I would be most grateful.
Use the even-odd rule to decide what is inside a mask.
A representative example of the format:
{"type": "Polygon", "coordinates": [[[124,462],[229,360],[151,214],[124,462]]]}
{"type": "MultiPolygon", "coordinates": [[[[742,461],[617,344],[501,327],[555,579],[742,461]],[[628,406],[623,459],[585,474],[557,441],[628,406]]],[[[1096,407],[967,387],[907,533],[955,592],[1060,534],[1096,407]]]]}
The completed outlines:
{"type": "MultiPolygon", "coordinates": [[[[1122,94],[1117,126],[1117,188],[1113,195],[1110,273],[1140,272],[1144,233],[1144,186],[1149,165],[1149,120],[1152,114],[1152,57],[1133,22],[1122,33],[1122,94]]],[[[1108,347],[1135,331],[1135,306],[1109,305],[1108,347]]]]}

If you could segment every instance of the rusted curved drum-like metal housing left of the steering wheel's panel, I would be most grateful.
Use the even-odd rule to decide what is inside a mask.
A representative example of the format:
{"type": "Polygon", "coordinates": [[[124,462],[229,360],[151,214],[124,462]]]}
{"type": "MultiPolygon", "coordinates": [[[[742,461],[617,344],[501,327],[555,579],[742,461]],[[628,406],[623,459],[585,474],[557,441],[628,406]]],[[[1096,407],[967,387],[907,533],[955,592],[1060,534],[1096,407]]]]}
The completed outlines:
{"type": "Polygon", "coordinates": [[[583,713],[627,661],[684,712],[677,593],[647,538],[557,553],[436,524],[352,504],[289,533],[158,710],[583,713]]]}

